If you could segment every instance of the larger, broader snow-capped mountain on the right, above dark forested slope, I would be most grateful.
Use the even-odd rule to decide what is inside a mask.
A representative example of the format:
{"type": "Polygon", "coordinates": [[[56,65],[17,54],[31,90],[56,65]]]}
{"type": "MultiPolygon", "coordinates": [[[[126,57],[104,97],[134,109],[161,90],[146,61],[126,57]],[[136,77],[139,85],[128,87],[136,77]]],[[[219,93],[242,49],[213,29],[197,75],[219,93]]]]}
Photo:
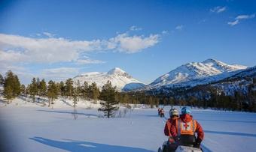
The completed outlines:
{"type": "Polygon", "coordinates": [[[181,87],[202,85],[233,76],[247,67],[238,64],[225,64],[215,59],[191,62],[157,78],[146,88],[181,87]]]}

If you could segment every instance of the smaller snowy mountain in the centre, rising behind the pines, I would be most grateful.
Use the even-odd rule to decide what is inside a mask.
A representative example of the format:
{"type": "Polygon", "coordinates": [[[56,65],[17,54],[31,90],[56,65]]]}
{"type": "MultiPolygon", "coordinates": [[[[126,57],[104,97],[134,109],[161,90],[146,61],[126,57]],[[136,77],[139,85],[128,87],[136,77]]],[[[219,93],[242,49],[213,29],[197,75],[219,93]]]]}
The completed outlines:
{"type": "Polygon", "coordinates": [[[81,84],[84,84],[84,81],[88,82],[88,84],[96,82],[99,88],[102,88],[102,86],[109,80],[113,86],[117,87],[117,91],[130,91],[145,86],[142,82],[134,79],[118,67],[115,67],[106,73],[83,73],[75,76],[73,80],[74,82],[78,82],[79,80],[81,84]]]}

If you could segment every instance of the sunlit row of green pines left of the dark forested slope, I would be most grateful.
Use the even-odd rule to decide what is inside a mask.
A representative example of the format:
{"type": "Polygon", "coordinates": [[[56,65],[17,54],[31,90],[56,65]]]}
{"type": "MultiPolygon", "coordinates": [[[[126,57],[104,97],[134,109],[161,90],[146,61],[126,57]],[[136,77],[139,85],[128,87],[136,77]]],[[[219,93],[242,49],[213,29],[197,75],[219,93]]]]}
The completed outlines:
{"type": "MultiPolygon", "coordinates": [[[[73,79],[66,79],[66,81],[54,82],[52,80],[46,82],[45,79],[33,78],[29,85],[20,84],[20,80],[16,74],[8,70],[5,78],[0,74],[0,85],[3,86],[3,96],[9,104],[15,97],[22,96],[32,99],[32,103],[47,101],[48,106],[53,105],[58,97],[66,97],[73,101],[73,106],[78,104],[80,99],[91,100],[96,103],[102,100],[99,111],[104,112],[107,118],[113,117],[114,112],[117,111],[118,103],[125,104],[130,108],[130,103],[149,104],[151,108],[156,105],[154,97],[146,97],[143,95],[130,95],[118,92],[116,87],[111,85],[111,82],[106,82],[102,89],[97,87],[96,82],[88,84],[87,82],[74,82],[73,79]]],[[[45,103],[44,103],[45,104],[45,103]]],[[[158,104],[157,104],[158,105],[158,104]]]]}

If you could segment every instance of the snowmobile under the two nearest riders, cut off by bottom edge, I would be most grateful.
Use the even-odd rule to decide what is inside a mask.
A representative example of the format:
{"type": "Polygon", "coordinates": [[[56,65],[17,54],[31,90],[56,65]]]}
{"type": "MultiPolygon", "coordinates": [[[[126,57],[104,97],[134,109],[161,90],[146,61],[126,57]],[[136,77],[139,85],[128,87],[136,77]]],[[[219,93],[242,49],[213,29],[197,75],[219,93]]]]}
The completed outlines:
{"type": "Polygon", "coordinates": [[[202,148],[194,148],[194,147],[189,147],[189,146],[184,146],[184,145],[171,145],[169,147],[169,143],[163,142],[162,148],[158,148],[158,152],[203,152],[202,148]]]}

